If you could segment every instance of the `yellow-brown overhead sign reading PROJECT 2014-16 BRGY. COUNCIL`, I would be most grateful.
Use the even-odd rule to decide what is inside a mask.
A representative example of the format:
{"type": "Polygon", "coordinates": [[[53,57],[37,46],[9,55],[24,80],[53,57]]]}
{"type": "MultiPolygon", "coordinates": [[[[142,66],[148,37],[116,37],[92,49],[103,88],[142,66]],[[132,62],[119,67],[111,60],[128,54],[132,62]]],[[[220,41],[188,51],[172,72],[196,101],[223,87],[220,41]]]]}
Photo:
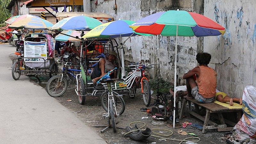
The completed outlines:
{"type": "Polygon", "coordinates": [[[42,6],[71,6],[73,5],[83,5],[82,0],[37,0],[28,4],[27,7],[42,7],[42,6]]]}

